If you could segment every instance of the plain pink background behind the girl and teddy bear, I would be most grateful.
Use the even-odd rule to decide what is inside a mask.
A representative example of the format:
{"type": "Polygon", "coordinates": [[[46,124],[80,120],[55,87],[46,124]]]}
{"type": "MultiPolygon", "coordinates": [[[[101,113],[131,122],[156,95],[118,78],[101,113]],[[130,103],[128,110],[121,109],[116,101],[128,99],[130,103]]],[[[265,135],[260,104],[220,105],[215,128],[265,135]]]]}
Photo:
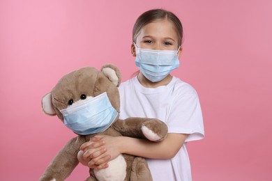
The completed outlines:
{"type": "MultiPolygon", "coordinates": [[[[259,1],[0,0],[0,180],[38,180],[75,134],[41,111],[64,74],[116,64],[123,81],[135,19],[150,8],[181,18],[174,75],[194,86],[206,138],[188,145],[193,180],[271,180],[272,3],[259,1]]],[[[84,180],[77,166],[68,180],[84,180]]]]}

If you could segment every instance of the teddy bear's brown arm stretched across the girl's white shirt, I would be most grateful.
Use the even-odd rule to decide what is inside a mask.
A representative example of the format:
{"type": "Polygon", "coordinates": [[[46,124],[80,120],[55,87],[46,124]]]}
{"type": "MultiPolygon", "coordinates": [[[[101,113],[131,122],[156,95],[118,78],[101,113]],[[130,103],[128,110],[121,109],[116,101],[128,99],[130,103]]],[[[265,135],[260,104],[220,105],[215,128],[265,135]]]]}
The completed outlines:
{"type": "Polygon", "coordinates": [[[117,120],[114,129],[123,136],[130,136],[149,141],[162,141],[167,135],[167,125],[156,118],[127,118],[117,120]]]}

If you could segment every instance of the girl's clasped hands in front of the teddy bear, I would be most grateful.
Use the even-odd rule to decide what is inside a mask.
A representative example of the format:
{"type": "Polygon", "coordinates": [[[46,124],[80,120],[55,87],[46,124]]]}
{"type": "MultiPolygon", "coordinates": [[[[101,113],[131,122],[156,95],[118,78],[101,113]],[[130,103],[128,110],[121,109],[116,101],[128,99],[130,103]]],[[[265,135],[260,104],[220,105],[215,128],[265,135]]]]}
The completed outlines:
{"type": "Polygon", "coordinates": [[[81,146],[82,152],[79,152],[79,155],[83,160],[80,158],[80,162],[94,169],[107,168],[107,162],[121,154],[120,139],[121,137],[114,136],[94,136],[81,146]]]}

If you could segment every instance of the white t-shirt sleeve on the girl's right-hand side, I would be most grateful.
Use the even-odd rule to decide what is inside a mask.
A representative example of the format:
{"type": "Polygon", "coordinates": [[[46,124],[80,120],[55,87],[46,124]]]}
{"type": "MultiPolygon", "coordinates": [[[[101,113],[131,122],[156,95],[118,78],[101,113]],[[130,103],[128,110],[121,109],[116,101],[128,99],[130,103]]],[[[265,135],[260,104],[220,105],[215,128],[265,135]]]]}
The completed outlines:
{"type": "Polygon", "coordinates": [[[186,142],[204,138],[202,110],[194,90],[185,95],[174,96],[167,126],[169,133],[189,134],[186,142]]]}

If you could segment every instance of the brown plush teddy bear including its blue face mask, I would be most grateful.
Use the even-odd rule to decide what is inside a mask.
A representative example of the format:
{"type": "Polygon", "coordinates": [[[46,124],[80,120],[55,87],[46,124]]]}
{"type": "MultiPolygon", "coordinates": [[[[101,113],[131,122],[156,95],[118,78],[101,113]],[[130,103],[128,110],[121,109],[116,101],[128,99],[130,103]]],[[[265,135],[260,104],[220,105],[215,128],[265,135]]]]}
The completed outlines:
{"type": "MultiPolygon", "coordinates": [[[[96,134],[131,136],[161,141],[167,126],[155,118],[119,119],[118,86],[121,74],[114,65],[101,70],[81,68],[62,77],[52,92],[43,97],[43,111],[59,119],[78,136],[71,139],[54,157],[40,180],[65,180],[79,161],[80,146],[96,134]]],[[[137,109],[137,107],[135,107],[137,109]]],[[[90,169],[87,180],[152,180],[142,157],[122,154],[101,170],[90,169]]]]}

